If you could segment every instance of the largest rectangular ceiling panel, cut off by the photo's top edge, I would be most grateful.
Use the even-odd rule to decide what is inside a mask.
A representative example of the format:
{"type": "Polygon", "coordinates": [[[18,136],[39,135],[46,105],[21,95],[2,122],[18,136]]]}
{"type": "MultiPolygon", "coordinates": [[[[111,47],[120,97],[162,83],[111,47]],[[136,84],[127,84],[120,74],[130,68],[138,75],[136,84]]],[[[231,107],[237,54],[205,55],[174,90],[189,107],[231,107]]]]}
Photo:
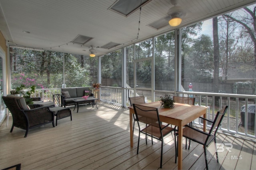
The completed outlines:
{"type": "Polygon", "coordinates": [[[140,6],[144,6],[150,1],[151,0],[118,0],[108,9],[127,17],[138,10],[140,6]]]}

